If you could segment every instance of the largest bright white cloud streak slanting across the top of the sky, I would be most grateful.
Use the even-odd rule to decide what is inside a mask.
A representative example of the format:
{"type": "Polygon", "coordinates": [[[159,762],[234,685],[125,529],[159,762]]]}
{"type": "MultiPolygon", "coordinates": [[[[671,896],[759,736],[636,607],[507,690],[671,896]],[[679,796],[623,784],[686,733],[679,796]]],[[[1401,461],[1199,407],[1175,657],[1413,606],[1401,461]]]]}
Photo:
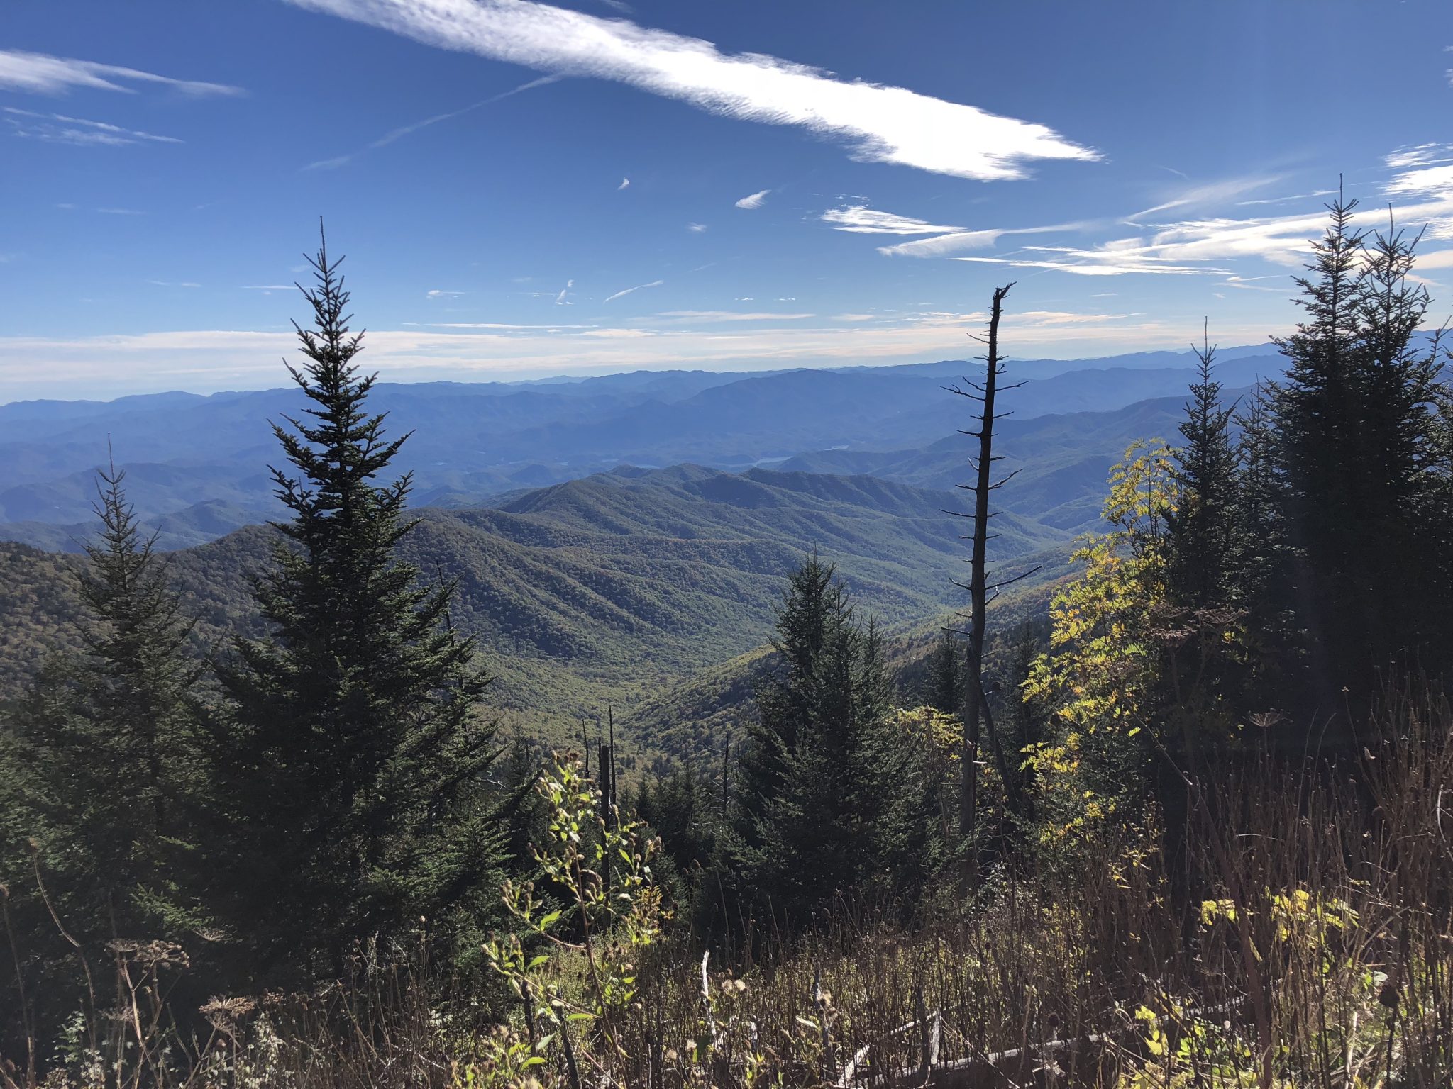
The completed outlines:
{"type": "Polygon", "coordinates": [[[834,78],[764,54],[535,0],[292,0],[427,45],[555,76],[616,80],[741,121],[798,125],[854,158],[978,180],[1024,177],[1030,160],[1098,160],[1053,129],[902,87],[834,78]]]}

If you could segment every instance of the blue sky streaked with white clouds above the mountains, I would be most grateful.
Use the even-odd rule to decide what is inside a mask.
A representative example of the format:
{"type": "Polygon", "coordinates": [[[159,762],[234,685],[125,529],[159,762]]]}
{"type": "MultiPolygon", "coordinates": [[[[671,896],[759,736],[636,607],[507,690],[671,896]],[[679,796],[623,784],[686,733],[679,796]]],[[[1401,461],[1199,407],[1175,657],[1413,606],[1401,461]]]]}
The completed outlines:
{"type": "Polygon", "coordinates": [[[1257,343],[1338,174],[1453,308],[1453,6],[51,0],[0,23],[0,401],[1257,343]]]}

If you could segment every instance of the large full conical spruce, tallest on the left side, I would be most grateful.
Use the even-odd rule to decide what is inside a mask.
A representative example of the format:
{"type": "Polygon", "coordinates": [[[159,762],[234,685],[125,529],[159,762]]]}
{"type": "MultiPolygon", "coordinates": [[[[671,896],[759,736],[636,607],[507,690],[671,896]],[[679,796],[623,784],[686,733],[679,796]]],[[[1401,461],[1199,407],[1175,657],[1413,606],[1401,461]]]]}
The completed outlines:
{"type": "Polygon", "coordinates": [[[484,784],[490,678],[449,624],[453,587],[395,555],[418,524],[410,476],[375,484],[408,436],[385,439],[366,411],[375,376],[355,363],[362,333],[325,242],[311,264],[307,362],[289,366],[311,405],[273,425],[292,518],[273,523],[273,566],[253,581],[272,632],[235,639],[219,669],[214,778],[224,919],[250,963],[317,976],[420,918],[437,934],[493,913],[501,829],[484,784]]]}

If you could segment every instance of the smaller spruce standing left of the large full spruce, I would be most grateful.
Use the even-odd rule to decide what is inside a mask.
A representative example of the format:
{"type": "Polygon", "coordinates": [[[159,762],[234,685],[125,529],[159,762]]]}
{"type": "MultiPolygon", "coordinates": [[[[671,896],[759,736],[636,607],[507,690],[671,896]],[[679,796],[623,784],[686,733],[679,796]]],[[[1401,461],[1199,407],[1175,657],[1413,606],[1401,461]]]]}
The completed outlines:
{"type": "MultiPolygon", "coordinates": [[[[169,838],[189,787],[195,621],[142,537],[115,466],[99,473],[100,533],[80,578],[84,652],[55,662],[15,720],[29,807],[48,841],[70,925],[93,937],[170,932],[169,838]]],[[[19,770],[19,768],[17,768],[19,770]]]]}

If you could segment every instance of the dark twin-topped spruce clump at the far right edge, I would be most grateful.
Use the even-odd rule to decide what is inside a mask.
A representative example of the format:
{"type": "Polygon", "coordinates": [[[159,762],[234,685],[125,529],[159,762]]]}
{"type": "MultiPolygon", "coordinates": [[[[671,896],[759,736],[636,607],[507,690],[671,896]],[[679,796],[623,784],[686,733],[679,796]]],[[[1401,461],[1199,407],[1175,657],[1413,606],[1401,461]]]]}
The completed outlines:
{"type": "Polygon", "coordinates": [[[1411,560],[1446,544],[1447,472],[1434,405],[1436,346],[1415,341],[1427,292],[1408,280],[1414,242],[1351,227],[1354,200],[1299,277],[1306,318],[1277,340],[1274,456],[1286,499],[1293,608],[1306,636],[1316,710],[1354,716],[1389,666],[1441,658],[1449,590],[1411,560]]]}

